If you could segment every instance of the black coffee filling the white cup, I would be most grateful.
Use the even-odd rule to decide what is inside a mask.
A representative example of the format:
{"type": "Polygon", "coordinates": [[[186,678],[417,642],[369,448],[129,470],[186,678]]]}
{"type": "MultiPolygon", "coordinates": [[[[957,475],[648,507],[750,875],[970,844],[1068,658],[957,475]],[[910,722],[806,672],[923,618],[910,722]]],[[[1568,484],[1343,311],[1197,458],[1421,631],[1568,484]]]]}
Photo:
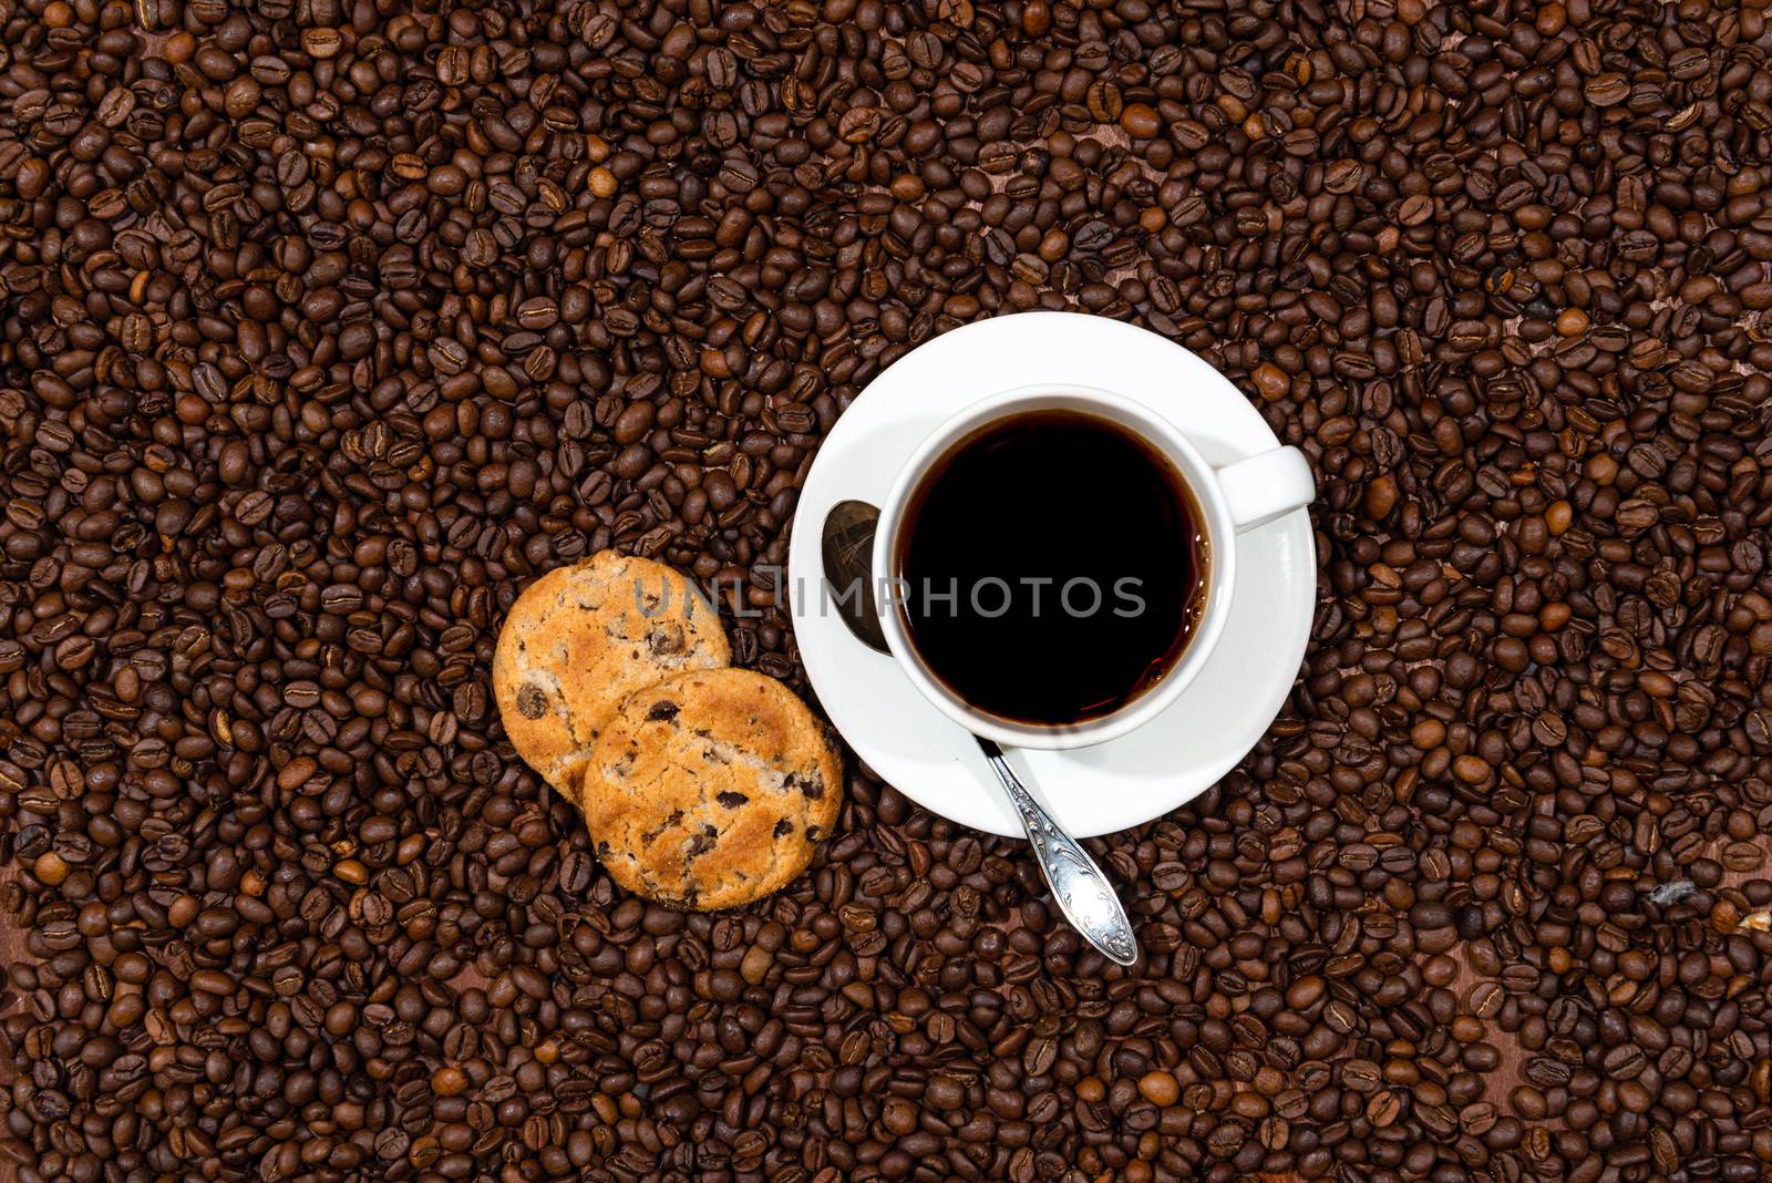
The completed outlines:
{"type": "Polygon", "coordinates": [[[1132,430],[1077,411],[978,429],[907,501],[893,572],[937,682],[1015,723],[1081,723],[1180,659],[1207,590],[1203,515],[1132,430]]]}

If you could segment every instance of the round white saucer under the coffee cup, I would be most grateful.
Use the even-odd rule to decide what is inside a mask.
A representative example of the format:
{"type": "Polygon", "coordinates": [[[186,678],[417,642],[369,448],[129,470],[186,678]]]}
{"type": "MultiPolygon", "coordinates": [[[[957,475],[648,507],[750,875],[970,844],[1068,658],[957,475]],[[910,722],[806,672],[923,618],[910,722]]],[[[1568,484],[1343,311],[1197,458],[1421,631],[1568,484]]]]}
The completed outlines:
{"type": "MultiPolygon", "coordinates": [[[[998,317],[934,338],[874,379],[826,436],[789,547],[794,634],[819,703],[861,760],[905,797],[1008,836],[1021,836],[1021,822],[973,738],[838,616],[824,593],[819,537],[838,501],[879,505],[916,443],[950,414],[1035,383],[1100,386],[1141,402],[1180,427],[1214,466],[1279,443],[1230,381],[1180,345],[1067,312],[998,317]]],[[[1077,838],[1187,804],[1255,747],[1285,703],[1317,599],[1310,514],[1297,510],[1240,535],[1237,563],[1219,648],[1170,710],[1095,747],[1008,753],[1077,838]]]]}

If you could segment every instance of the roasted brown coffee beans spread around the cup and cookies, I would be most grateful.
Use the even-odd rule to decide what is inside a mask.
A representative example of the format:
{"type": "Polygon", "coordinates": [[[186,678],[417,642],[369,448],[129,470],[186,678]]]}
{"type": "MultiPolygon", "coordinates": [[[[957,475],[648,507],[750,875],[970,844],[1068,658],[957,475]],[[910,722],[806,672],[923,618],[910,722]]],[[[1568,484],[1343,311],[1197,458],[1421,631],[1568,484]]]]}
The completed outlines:
{"type": "MultiPolygon", "coordinates": [[[[1772,39],[1701,0],[0,2],[0,1156],[21,1179],[1722,1179],[1772,1165],[1772,39]],[[487,692],[599,547],[769,570],[1021,308],[1322,482],[1262,746],[1095,843],[856,770],[620,896],[487,692]]],[[[744,609],[739,615],[735,609],[744,609]]]]}

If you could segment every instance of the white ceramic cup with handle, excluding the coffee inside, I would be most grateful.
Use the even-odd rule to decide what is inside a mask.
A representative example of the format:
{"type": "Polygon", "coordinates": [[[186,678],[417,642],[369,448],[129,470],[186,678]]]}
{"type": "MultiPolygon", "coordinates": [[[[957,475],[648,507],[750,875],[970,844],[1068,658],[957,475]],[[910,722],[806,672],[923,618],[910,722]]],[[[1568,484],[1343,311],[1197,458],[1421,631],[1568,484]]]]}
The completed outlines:
{"type": "MultiPolygon", "coordinates": [[[[973,735],[1014,747],[1088,747],[1127,735],[1162,714],[1187,684],[1207,666],[1224,630],[1230,600],[1237,588],[1239,535],[1310,505],[1317,496],[1310,464],[1297,448],[1272,448],[1237,464],[1214,469],[1173,423],[1148,407],[1093,386],[1040,384],[1008,390],[976,402],[923,439],[898,469],[891,492],[879,506],[874,535],[874,572],[895,576],[895,556],[902,554],[900,533],[907,528],[907,508],[921,482],[952,448],[980,429],[1037,411],[1070,411],[1120,425],[1139,436],[1180,473],[1200,506],[1207,553],[1205,606],[1193,636],[1175,664],[1141,694],[1120,708],[1065,724],[1035,724],[980,710],[948,689],[925,664],[911,639],[911,623],[902,595],[877,595],[881,629],[893,659],[911,684],[941,714],[973,735]]],[[[1178,540],[1178,545],[1182,542],[1178,540]]],[[[891,590],[891,584],[882,584],[891,590]]],[[[1063,678],[1054,668],[1051,677],[1063,678]]]]}

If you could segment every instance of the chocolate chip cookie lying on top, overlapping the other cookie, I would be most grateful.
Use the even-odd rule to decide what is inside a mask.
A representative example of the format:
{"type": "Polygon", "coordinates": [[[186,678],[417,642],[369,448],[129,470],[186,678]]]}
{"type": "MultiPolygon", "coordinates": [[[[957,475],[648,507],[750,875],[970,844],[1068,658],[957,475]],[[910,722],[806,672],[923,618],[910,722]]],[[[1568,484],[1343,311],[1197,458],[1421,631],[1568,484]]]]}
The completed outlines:
{"type": "Polygon", "coordinates": [[[689,671],[631,694],[578,774],[615,882],[702,910],[750,903],[806,870],[843,799],[829,730],[750,669],[689,671]]]}

